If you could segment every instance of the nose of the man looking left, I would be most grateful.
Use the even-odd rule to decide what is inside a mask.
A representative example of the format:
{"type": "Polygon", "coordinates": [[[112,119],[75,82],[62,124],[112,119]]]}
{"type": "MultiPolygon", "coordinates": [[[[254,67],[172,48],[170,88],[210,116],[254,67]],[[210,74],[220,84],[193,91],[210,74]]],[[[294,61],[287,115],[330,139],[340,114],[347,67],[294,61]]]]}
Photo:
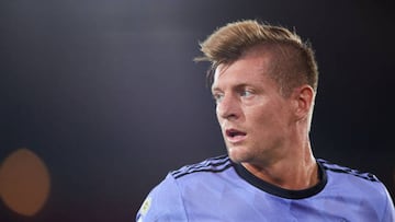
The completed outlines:
{"type": "Polygon", "coordinates": [[[218,119],[237,119],[240,116],[240,104],[233,95],[224,95],[216,105],[218,119]]]}

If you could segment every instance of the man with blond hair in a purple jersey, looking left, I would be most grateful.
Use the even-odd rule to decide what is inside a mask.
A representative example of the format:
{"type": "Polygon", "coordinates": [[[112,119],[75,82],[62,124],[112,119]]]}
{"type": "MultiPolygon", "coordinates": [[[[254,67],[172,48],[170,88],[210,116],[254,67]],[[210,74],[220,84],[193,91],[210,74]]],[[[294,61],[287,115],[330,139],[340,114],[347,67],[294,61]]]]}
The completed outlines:
{"type": "Polygon", "coordinates": [[[169,173],[138,222],[395,221],[374,175],[313,155],[318,71],[308,44],[284,27],[241,21],[201,47],[228,155],[169,173]]]}

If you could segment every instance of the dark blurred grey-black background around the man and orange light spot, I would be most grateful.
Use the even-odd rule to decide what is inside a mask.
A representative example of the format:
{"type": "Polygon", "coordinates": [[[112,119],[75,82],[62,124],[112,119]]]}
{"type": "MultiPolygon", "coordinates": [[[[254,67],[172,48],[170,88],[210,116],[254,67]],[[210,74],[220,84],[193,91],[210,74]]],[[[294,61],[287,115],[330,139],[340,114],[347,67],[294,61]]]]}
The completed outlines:
{"type": "Polygon", "coordinates": [[[0,163],[30,149],[50,191],[33,217],[0,199],[0,221],[134,221],[170,170],[225,153],[208,65],[193,58],[242,19],[309,39],[315,155],[375,174],[394,197],[390,1],[1,0],[0,163]]]}

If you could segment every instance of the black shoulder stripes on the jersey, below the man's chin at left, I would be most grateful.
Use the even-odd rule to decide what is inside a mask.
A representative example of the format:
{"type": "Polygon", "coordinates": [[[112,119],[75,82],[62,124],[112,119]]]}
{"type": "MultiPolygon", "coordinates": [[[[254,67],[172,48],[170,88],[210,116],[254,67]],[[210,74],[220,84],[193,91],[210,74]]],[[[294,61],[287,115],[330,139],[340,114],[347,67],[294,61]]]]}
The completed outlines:
{"type": "Polygon", "coordinates": [[[227,155],[219,155],[199,163],[184,165],[179,170],[170,172],[170,175],[178,179],[187,175],[196,175],[196,173],[222,173],[232,167],[232,165],[233,163],[227,155]]]}

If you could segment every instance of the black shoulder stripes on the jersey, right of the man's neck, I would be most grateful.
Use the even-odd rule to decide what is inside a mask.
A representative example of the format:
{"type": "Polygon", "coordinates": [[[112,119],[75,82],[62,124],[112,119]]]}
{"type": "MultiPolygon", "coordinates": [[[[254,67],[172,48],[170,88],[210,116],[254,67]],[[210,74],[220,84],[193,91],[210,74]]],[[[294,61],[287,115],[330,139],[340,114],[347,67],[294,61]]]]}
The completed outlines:
{"type": "Polygon", "coordinates": [[[372,173],[338,165],[323,159],[317,159],[317,162],[323,166],[326,172],[330,172],[336,176],[350,176],[351,178],[356,179],[360,178],[362,179],[361,182],[380,183],[379,178],[372,173]]]}

